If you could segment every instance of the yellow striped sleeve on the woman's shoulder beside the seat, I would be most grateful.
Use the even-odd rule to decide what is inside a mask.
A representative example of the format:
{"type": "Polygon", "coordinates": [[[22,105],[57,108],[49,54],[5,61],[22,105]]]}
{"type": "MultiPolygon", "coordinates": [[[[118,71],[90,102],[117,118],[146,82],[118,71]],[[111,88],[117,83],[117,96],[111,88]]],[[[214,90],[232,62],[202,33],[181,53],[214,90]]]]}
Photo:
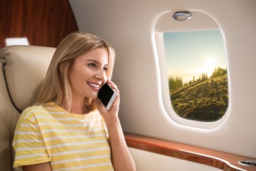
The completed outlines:
{"type": "Polygon", "coordinates": [[[15,168],[50,161],[35,113],[29,108],[24,110],[17,123],[13,139],[15,168]]]}

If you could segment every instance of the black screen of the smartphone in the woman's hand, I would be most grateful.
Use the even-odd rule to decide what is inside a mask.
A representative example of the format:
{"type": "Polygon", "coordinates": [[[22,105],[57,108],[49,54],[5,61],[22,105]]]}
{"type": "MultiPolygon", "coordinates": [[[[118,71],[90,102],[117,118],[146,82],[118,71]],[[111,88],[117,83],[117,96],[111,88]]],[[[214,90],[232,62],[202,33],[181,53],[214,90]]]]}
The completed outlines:
{"type": "Polygon", "coordinates": [[[114,95],[114,91],[107,83],[104,84],[98,92],[98,98],[105,107],[107,107],[112,95],[114,95]]]}

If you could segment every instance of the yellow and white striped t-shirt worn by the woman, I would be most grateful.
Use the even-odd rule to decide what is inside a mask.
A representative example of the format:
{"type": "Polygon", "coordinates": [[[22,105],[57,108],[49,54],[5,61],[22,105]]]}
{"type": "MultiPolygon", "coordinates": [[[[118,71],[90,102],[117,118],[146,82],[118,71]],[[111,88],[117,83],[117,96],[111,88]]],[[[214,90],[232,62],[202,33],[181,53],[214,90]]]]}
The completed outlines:
{"type": "Polygon", "coordinates": [[[52,102],[28,107],[17,123],[13,147],[14,167],[50,161],[52,170],[113,170],[98,110],[74,114],[52,102]]]}

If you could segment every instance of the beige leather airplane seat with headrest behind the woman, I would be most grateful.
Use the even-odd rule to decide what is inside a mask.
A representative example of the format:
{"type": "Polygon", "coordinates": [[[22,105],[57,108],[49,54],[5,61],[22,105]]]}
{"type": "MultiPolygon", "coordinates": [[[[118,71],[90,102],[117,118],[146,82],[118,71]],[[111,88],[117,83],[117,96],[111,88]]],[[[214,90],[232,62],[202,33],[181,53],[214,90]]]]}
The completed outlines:
{"type": "Polygon", "coordinates": [[[55,50],[13,45],[0,51],[0,170],[13,170],[11,142],[17,120],[35,102],[55,50]]]}

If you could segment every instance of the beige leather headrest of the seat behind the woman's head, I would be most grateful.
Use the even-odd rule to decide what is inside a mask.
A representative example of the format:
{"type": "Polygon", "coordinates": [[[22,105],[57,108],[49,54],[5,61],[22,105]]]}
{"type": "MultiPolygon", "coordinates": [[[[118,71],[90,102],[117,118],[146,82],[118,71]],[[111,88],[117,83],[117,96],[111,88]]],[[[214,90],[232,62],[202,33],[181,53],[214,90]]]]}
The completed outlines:
{"type": "MultiPolygon", "coordinates": [[[[12,45],[0,51],[5,82],[13,105],[22,112],[36,102],[56,48],[12,45]]],[[[47,93],[47,92],[46,92],[47,93]]]]}

